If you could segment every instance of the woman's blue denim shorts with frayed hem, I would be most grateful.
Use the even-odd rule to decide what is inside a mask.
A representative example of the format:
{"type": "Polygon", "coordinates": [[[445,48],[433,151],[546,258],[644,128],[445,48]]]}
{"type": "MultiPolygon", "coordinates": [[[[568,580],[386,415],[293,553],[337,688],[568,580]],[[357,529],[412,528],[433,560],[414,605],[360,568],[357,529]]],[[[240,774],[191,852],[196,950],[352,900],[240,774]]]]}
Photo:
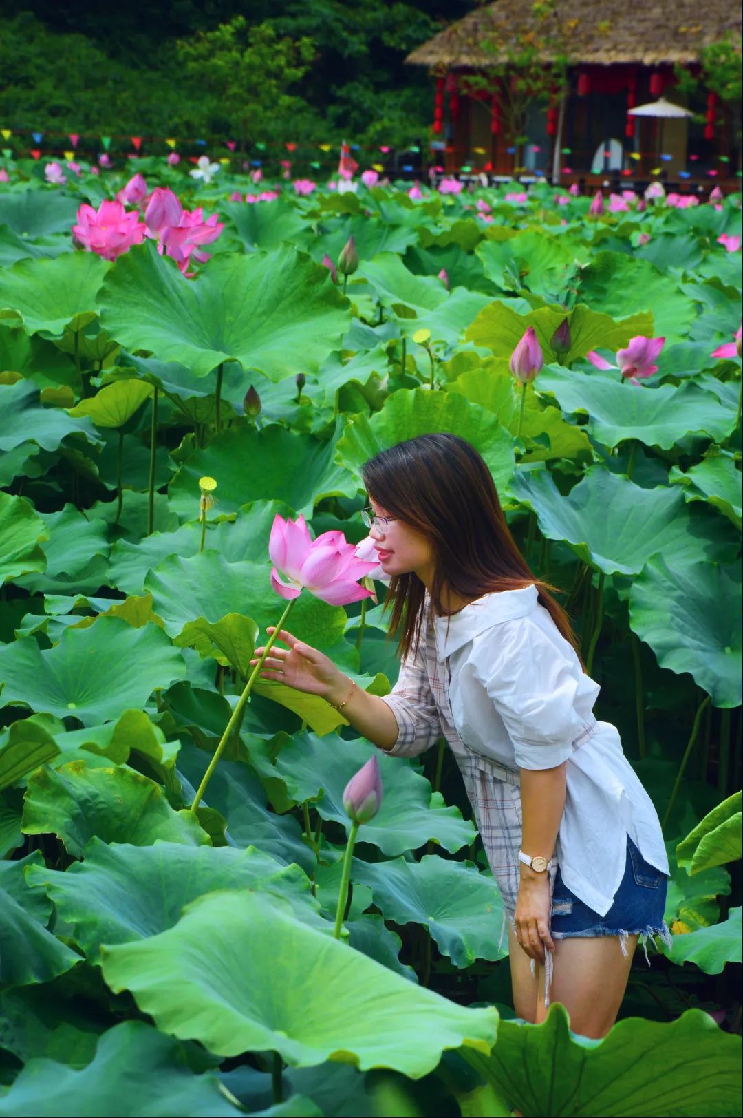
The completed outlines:
{"type": "MultiPolygon", "coordinates": [[[[667,889],[668,877],[645,861],[628,835],[625,877],[606,916],[599,916],[579,900],[558,869],[552,893],[552,936],[554,939],[619,936],[625,954],[628,936],[639,935],[642,944],[647,944],[648,937],[655,944],[655,937],[659,936],[670,945],[670,932],[663,918],[667,889]]],[[[647,958],[647,947],[645,954],[647,958]]]]}

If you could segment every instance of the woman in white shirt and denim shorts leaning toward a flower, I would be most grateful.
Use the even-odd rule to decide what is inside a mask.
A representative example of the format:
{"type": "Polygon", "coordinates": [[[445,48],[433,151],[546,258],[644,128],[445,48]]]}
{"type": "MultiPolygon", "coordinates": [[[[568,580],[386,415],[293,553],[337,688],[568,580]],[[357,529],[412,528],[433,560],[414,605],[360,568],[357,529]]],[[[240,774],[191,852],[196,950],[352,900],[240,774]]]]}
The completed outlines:
{"type": "Polygon", "coordinates": [[[655,808],[616,728],[593,717],[599,686],[474,447],[422,435],[382,451],[362,476],[390,627],[401,627],[398,683],[382,698],[358,690],[286,631],[263,675],[323,695],[392,756],[445,735],[511,918],[517,1015],[539,1023],[551,998],[575,1032],[603,1036],[639,937],[669,936],[655,808]]]}

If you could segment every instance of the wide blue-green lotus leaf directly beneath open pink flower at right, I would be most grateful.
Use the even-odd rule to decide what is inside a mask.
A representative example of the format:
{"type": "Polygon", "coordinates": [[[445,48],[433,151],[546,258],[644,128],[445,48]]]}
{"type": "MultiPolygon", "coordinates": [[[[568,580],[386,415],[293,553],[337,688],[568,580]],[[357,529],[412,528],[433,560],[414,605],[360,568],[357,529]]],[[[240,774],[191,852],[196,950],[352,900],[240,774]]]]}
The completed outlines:
{"type": "Polygon", "coordinates": [[[622,383],[619,373],[552,368],[544,370],[535,387],[556,396],[565,413],[588,413],[588,429],[604,446],[637,438],[646,446],[670,449],[693,433],[722,442],[735,429],[737,418],[716,396],[692,381],[678,388],[648,389],[622,383]]]}

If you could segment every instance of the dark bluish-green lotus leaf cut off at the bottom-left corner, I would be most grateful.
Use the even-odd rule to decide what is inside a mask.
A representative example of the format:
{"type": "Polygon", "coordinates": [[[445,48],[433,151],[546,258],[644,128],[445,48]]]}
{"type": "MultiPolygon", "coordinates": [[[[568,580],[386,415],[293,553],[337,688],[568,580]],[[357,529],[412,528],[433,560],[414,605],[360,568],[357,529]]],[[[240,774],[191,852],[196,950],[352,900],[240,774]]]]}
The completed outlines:
{"type": "Polygon", "coordinates": [[[242,1114],[213,1072],[191,1071],[177,1040],[144,1021],[123,1021],[101,1036],[86,1068],[29,1060],[0,1097],[0,1115],[117,1118],[124,1099],[127,1115],[152,1118],[175,1114],[238,1118],[242,1114]]]}

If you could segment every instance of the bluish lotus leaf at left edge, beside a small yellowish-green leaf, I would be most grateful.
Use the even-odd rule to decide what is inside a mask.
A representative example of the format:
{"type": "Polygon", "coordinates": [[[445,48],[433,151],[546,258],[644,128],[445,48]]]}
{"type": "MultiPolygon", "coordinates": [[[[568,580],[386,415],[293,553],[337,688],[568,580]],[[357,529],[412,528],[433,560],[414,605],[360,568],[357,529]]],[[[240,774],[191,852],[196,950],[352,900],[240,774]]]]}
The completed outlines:
{"type": "Polygon", "coordinates": [[[0,452],[29,443],[45,451],[56,451],[68,435],[83,435],[88,443],[101,446],[92,421],[73,418],[63,408],[45,408],[39,402],[38,386],[28,380],[15,385],[0,383],[0,452]]]}

